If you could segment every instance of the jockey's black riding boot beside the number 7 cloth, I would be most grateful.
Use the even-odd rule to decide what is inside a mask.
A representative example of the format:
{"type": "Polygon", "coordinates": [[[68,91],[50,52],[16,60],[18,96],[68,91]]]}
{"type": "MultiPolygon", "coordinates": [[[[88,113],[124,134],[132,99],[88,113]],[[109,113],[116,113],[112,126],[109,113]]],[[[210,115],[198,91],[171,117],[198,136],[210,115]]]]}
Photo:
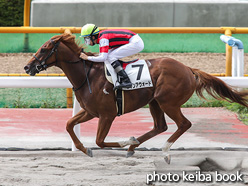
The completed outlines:
{"type": "Polygon", "coordinates": [[[115,72],[117,73],[117,75],[120,76],[120,81],[119,81],[120,84],[118,86],[115,86],[114,90],[122,89],[122,88],[131,88],[132,83],[127,73],[125,72],[125,70],[123,70],[119,60],[113,62],[111,65],[115,69],[115,72]]]}

